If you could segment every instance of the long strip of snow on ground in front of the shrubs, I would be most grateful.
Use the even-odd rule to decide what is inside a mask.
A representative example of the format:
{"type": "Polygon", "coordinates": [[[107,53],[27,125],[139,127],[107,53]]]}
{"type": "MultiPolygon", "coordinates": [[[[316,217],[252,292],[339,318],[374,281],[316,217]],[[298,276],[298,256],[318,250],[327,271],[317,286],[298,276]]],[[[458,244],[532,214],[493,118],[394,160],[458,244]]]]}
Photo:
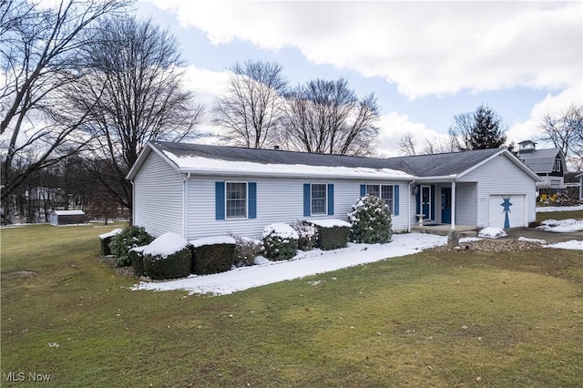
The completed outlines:
{"type": "Polygon", "coordinates": [[[263,264],[241,267],[212,275],[191,275],[176,281],[140,281],[132,290],[185,290],[193,293],[230,294],[277,281],[289,281],[318,273],[340,270],[359,264],[405,256],[427,248],[445,245],[445,236],[407,233],[393,236],[387,244],[353,244],[340,250],[310,250],[292,260],[262,261],[263,264]]]}

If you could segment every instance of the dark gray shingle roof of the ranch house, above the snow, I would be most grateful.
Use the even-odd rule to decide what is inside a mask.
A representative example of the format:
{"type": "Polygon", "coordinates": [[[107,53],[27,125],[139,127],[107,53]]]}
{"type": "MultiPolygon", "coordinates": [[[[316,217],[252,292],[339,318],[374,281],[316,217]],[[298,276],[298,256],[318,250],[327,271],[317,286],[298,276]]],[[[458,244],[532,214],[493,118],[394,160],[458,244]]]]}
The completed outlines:
{"type": "Polygon", "coordinates": [[[345,168],[392,168],[416,177],[441,177],[460,174],[500,151],[500,148],[492,148],[414,157],[363,158],[275,149],[223,147],[162,141],[152,143],[152,145],[160,151],[168,151],[177,157],[217,158],[262,164],[302,164],[308,166],[345,168]]]}

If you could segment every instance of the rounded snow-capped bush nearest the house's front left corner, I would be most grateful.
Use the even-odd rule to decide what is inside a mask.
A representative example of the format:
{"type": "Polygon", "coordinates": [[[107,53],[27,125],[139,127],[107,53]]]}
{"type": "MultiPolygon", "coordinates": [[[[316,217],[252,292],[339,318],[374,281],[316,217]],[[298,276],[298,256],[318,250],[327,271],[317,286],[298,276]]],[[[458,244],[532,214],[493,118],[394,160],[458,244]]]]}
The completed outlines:
{"type": "Polygon", "coordinates": [[[156,280],[176,279],[189,276],[192,255],[189,241],[177,233],[164,233],[142,250],[144,272],[156,280]]]}

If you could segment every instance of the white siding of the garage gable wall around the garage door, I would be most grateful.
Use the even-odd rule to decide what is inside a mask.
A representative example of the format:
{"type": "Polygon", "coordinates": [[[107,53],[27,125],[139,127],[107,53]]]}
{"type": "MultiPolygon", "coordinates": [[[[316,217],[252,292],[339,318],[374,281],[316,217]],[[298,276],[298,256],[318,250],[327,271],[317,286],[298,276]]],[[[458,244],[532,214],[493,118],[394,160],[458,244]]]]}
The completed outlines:
{"type": "MultiPolygon", "coordinates": [[[[523,194],[527,203],[527,222],[537,219],[535,180],[506,156],[498,156],[458,179],[459,182],[477,182],[478,227],[489,225],[490,195],[523,194]]],[[[527,224],[526,222],[526,224],[527,224]]],[[[527,225],[525,225],[527,226],[527,225]]]]}

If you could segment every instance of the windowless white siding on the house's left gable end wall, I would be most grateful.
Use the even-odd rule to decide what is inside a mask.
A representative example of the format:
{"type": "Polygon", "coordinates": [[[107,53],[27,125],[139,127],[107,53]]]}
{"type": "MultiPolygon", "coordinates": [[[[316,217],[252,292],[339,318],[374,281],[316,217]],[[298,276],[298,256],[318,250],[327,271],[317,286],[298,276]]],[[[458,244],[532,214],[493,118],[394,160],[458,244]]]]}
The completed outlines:
{"type": "Polygon", "coordinates": [[[183,186],[179,172],[150,152],[134,179],[134,224],[154,237],[182,234],[183,186]]]}

